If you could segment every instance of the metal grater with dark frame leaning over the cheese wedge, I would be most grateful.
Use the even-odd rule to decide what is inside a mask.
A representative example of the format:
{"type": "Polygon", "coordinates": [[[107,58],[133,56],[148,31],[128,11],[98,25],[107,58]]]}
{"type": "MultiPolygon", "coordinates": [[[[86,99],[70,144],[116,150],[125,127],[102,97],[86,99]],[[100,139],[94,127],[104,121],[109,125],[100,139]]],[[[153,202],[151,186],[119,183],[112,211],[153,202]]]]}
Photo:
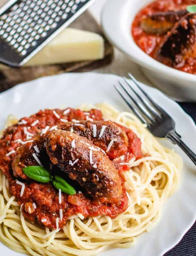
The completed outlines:
{"type": "Polygon", "coordinates": [[[0,62],[24,65],[93,1],[8,1],[0,9],[0,62]]]}

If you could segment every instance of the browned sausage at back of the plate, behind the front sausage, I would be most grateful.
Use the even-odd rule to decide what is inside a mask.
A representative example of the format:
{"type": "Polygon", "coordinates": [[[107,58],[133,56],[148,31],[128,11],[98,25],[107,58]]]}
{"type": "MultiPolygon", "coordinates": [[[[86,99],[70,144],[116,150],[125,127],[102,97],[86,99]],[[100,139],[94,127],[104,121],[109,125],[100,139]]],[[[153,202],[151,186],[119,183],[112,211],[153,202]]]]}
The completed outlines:
{"type": "Polygon", "coordinates": [[[106,155],[109,156],[110,160],[128,152],[128,138],[125,131],[111,121],[68,122],[59,125],[58,129],[72,131],[87,138],[94,145],[106,151],[106,155]]]}

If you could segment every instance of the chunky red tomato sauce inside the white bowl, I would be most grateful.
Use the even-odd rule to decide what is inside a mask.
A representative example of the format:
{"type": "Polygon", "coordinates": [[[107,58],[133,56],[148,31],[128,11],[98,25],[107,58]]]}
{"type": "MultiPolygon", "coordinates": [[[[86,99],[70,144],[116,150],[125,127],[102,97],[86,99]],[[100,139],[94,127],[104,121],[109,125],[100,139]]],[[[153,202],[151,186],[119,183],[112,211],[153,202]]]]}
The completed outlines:
{"type": "MultiPolygon", "coordinates": [[[[155,52],[160,46],[164,35],[150,34],[141,28],[141,20],[144,15],[152,15],[157,12],[168,12],[184,10],[187,5],[196,4],[196,0],[157,0],[143,8],[135,17],[132,24],[132,35],[135,43],[145,53],[156,59],[155,52]]],[[[163,64],[171,66],[166,60],[163,64]]],[[[182,67],[176,68],[180,71],[196,75],[196,58],[188,58],[182,67]]]]}

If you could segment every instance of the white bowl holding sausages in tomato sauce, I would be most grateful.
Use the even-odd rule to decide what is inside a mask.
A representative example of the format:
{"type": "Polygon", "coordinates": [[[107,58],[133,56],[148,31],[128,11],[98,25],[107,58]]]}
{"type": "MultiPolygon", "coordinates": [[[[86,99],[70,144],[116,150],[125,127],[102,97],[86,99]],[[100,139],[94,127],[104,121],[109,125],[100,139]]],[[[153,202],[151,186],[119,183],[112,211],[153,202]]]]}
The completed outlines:
{"type": "Polygon", "coordinates": [[[164,93],[181,101],[196,101],[196,75],[170,68],[151,58],[134,42],[135,15],[152,0],[109,0],[103,8],[102,26],[109,41],[140,65],[144,75],[164,93]]]}

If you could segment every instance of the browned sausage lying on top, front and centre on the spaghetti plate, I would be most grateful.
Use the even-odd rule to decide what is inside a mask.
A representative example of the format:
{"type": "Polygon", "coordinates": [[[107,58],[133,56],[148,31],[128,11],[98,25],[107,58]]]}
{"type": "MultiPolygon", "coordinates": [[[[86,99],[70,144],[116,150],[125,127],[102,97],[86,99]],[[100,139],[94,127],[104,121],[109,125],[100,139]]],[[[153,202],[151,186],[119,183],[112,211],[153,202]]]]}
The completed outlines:
{"type": "Polygon", "coordinates": [[[46,138],[50,160],[77,181],[94,199],[114,203],[122,195],[121,179],[112,161],[93,143],[69,131],[51,131],[46,138]]]}

